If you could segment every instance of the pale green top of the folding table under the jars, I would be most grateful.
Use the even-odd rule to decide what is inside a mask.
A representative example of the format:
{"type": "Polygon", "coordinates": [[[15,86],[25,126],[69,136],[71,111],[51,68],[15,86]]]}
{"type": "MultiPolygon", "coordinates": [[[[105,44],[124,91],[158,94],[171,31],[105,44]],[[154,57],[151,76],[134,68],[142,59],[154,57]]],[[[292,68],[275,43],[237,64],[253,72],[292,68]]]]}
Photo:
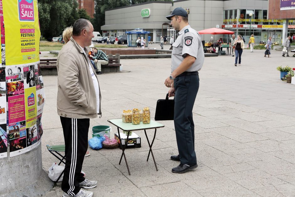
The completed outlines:
{"type": "Polygon", "coordinates": [[[111,120],[108,120],[108,122],[112,123],[116,127],[119,127],[123,131],[136,131],[136,130],[156,129],[156,128],[164,127],[163,124],[157,123],[156,121],[153,121],[153,120],[151,120],[151,123],[149,124],[143,124],[142,122],[140,122],[140,124],[123,123],[122,118],[111,119],[111,120]]]}

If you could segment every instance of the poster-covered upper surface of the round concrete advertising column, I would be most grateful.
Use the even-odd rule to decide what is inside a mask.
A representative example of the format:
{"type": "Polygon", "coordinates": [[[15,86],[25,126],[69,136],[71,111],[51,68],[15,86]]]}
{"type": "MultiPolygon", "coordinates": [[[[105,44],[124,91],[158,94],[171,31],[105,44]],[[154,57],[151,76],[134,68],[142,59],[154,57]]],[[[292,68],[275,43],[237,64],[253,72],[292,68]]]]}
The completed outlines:
{"type": "MultiPolygon", "coordinates": [[[[1,50],[4,62],[0,68],[0,158],[7,156],[7,149],[12,157],[40,144],[45,101],[39,62],[37,0],[3,1],[4,22],[5,47],[1,50]]],[[[1,35],[3,31],[4,26],[1,35]]]]}

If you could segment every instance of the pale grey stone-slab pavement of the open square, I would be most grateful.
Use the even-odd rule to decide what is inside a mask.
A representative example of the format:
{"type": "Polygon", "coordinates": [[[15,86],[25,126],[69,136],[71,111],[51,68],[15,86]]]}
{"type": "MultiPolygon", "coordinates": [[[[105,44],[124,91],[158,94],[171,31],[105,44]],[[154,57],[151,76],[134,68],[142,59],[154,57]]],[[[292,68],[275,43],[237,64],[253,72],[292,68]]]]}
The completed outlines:
{"type": "MultiPolygon", "coordinates": [[[[177,154],[173,121],[159,121],[153,152],[156,171],[142,131],[142,147],[127,149],[131,175],[121,150],[92,150],[84,159],[83,171],[97,180],[94,196],[294,196],[295,194],[295,85],[279,80],[279,65],[295,67],[293,57],[272,51],[244,50],[242,65],[234,57],[206,57],[200,71],[200,90],[193,109],[195,147],[199,167],[174,174],[179,163],[169,160],[177,154]],[[292,60],[292,61],[291,61],[292,60]]],[[[102,118],[94,125],[109,125],[124,109],[150,107],[165,98],[171,59],[124,59],[124,72],[99,75],[102,118]],[[131,71],[131,72],[126,72],[131,71]]],[[[56,159],[46,144],[64,142],[56,113],[57,77],[44,76],[46,102],[42,124],[42,162],[46,171],[56,159]]],[[[114,135],[115,128],[111,135],[114,135]]],[[[89,132],[89,139],[91,138],[89,132]]],[[[148,132],[149,138],[153,133],[148,132]]],[[[45,194],[62,196],[60,184],[45,194]]]]}

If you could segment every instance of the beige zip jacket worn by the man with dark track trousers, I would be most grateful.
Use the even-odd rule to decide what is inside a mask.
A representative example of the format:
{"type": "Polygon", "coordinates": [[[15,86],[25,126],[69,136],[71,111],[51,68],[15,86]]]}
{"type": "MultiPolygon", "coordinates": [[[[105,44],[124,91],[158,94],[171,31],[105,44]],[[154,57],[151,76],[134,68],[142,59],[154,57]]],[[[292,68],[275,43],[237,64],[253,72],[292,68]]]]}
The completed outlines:
{"type": "MultiPolygon", "coordinates": [[[[88,54],[90,48],[84,48],[88,54]]],[[[77,42],[70,41],[57,56],[57,113],[67,118],[96,118],[96,95],[89,71],[88,57],[77,42]]],[[[97,78],[93,66],[93,72],[97,78]]],[[[98,79],[97,79],[98,80],[98,79]]],[[[99,89],[99,114],[100,110],[99,89]]]]}

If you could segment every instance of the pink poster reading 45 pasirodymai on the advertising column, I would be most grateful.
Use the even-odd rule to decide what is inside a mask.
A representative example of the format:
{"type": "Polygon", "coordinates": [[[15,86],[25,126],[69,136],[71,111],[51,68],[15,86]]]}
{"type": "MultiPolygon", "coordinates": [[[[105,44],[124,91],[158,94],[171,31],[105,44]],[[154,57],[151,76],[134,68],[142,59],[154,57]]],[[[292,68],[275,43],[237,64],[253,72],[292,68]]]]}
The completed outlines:
{"type": "Polygon", "coordinates": [[[24,95],[8,97],[8,123],[16,123],[26,119],[24,95]]]}

